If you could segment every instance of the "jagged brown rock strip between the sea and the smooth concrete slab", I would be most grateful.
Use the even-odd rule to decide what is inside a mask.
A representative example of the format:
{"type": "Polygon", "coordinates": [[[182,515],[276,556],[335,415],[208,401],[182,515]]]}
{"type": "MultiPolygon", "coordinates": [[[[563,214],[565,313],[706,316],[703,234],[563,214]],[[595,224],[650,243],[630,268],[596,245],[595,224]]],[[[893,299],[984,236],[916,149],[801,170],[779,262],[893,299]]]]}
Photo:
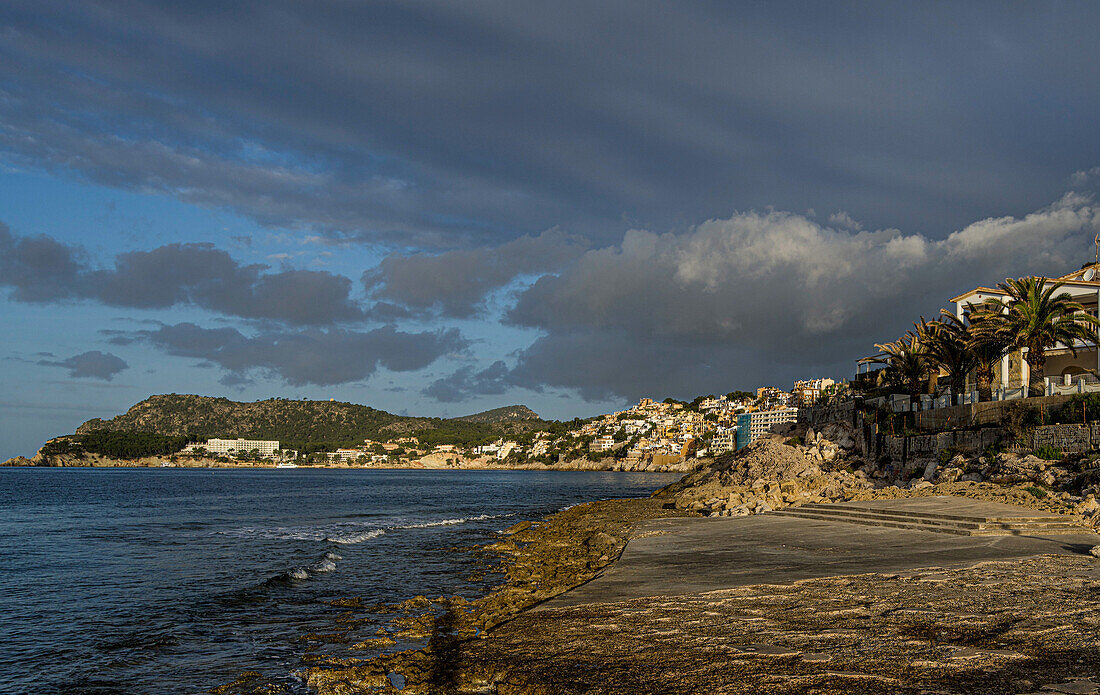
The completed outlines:
{"type": "MultiPolygon", "coordinates": [[[[521,521],[492,544],[452,549],[485,555],[488,567],[503,574],[503,583],[481,598],[416,596],[392,606],[366,605],[358,596],[340,598],[333,605],[344,613],[334,629],[373,631],[374,637],[353,646],[363,651],[363,659],[310,652],[307,683],[321,695],[397,692],[389,675],[400,674],[405,693],[446,692],[439,684],[450,682],[448,660],[461,644],[485,638],[525,610],[596,576],[619,556],[641,521],[683,516],[696,515],[658,498],[585,503],[540,521],[521,521]],[[387,619],[380,621],[378,615],[387,619]],[[387,651],[403,643],[424,647],[387,651]],[[371,652],[378,655],[366,658],[371,652]]],[[[244,673],[212,692],[258,695],[282,690],[257,673],[244,673]]]]}

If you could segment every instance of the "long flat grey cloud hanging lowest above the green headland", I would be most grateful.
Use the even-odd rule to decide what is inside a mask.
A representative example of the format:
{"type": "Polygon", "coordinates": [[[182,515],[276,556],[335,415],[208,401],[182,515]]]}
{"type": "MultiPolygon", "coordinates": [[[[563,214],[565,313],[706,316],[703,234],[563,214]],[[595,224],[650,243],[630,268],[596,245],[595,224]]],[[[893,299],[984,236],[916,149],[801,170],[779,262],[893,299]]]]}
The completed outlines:
{"type": "Polygon", "coordinates": [[[366,332],[310,329],[248,337],[232,328],[177,323],[134,335],[170,355],[217,364],[227,372],[222,383],[232,386],[245,383],[252,371],[276,376],[292,386],[360,382],[380,366],[411,372],[469,345],[454,329],[407,333],[393,327],[366,332]]]}

